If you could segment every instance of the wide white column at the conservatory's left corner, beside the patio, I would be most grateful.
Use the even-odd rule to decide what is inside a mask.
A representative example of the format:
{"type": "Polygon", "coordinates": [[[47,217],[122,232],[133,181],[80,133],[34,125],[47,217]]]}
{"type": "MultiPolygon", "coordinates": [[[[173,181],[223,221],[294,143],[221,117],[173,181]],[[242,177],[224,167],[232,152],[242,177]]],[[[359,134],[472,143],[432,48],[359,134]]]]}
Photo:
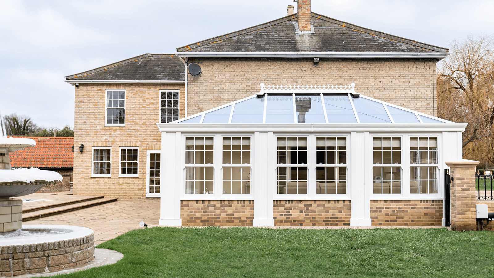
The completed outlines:
{"type": "Polygon", "coordinates": [[[182,226],[180,185],[182,173],[179,132],[161,133],[161,204],[160,226],[182,226]]]}

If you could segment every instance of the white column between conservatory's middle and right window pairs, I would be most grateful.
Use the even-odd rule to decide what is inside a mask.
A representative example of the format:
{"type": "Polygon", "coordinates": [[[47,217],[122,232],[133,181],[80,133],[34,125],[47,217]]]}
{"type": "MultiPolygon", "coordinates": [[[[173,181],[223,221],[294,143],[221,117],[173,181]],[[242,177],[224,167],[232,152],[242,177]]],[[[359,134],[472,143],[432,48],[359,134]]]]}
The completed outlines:
{"type": "Polygon", "coordinates": [[[352,198],[352,218],[350,226],[371,226],[371,198],[370,198],[370,155],[371,137],[369,132],[350,133],[350,196],[352,198]]]}

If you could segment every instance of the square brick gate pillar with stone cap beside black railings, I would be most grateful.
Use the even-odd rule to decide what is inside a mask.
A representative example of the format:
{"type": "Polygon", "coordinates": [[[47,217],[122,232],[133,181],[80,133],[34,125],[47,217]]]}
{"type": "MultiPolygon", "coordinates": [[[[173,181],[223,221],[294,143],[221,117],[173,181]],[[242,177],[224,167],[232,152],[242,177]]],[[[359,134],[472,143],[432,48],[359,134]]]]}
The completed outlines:
{"type": "Polygon", "coordinates": [[[475,166],[478,161],[462,159],[446,162],[450,166],[451,182],[451,228],[475,231],[475,166]]]}

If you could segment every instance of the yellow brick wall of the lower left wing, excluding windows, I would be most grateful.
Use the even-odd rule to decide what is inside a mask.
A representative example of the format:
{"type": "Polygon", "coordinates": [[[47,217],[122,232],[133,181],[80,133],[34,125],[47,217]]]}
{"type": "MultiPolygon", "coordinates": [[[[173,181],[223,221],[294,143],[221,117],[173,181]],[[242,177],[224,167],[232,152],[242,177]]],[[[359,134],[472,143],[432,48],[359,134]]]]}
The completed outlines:
{"type": "Polygon", "coordinates": [[[161,149],[160,89],[178,89],[184,117],[183,84],[83,84],[75,89],[74,194],[119,198],[146,196],[146,150],[161,149]],[[105,127],[105,89],[125,89],[125,126],[105,127]],[[79,146],[84,144],[84,151],[79,146]],[[111,178],[91,178],[92,147],[112,149],[111,178]],[[139,147],[139,177],[119,178],[119,147],[139,147]]]}

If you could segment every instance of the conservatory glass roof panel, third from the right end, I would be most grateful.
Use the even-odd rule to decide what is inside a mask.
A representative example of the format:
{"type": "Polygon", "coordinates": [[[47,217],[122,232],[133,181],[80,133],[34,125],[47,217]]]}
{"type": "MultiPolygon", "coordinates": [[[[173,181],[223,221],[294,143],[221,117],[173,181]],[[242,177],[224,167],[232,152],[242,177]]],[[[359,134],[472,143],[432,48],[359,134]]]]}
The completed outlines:
{"type": "Polygon", "coordinates": [[[367,98],[353,98],[353,105],[361,123],[391,123],[384,105],[367,98]]]}

